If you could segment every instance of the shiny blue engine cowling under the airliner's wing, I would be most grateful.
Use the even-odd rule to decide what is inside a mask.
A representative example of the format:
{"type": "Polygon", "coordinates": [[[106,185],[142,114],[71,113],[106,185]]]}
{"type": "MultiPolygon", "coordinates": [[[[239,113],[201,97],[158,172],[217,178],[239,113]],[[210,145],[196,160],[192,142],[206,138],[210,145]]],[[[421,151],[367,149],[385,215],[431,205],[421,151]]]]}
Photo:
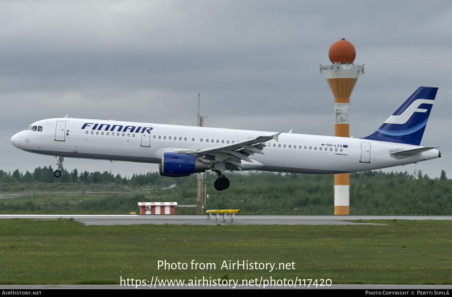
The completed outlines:
{"type": "Polygon", "coordinates": [[[196,172],[205,172],[210,164],[202,162],[199,157],[183,153],[163,153],[159,166],[161,176],[182,177],[196,172]]]}

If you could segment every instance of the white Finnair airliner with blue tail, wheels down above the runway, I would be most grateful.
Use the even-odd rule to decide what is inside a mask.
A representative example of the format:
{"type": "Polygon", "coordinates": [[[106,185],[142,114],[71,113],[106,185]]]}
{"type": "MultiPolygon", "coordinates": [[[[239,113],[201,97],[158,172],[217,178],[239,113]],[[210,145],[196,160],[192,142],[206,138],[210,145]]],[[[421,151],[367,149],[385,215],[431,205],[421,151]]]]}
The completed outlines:
{"type": "Polygon", "coordinates": [[[145,162],[159,164],[162,176],[212,170],[215,188],[225,190],[226,171],[334,174],[439,158],[437,147],[420,146],[437,90],[418,88],[375,133],[359,139],[64,117],[37,121],[11,143],[55,156],[56,177],[64,157],[145,162]]]}

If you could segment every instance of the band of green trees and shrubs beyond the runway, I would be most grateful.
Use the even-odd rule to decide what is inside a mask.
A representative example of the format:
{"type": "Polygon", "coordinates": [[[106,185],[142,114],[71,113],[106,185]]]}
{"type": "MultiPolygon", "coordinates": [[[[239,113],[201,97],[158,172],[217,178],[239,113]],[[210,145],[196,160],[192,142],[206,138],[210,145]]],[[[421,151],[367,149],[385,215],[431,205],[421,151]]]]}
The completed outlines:
{"type": "MultiPolygon", "coordinates": [[[[132,177],[114,176],[111,172],[68,172],[66,179],[61,176],[58,184],[120,184],[135,188],[151,188],[146,198],[143,196],[108,195],[101,200],[78,202],[71,213],[127,213],[135,211],[137,200],[176,201],[178,204],[196,204],[196,178],[170,178],[159,176],[157,172],[134,174],[132,177]],[[164,189],[162,185],[176,184],[164,189]],[[135,204],[134,204],[135,203],[135,204]],[[117,206],[115,206],[117,205],[117,206]],[[130,206],[130,207],[129,207],[130,206]]],[[[29,186],[44,185],[55,181],[52,167],[37,168],[21,174],[0,170],[2,191],[5,182],[29,186]],[[22,184],[21,184],[22,183],[22,184]]],[[[213,188],[217,175],[207,174],[207,209],[241,209],[246,214],[332,214],[334,213],[334,176],[286,174],[273,172],[228,173],[231,187],[224,191],[213,188]]],[[[28,188],[30,188],[28,186],[28,188]]],[[[25,187],[23,187],[25,188],[25,187]]],[[[34,211],[38,204],[15,204],[14,201],[0,202],[0,211],[20,209],[34,211]],[[14,205],[13,205],[14,204],[14,205]]],[[[41,211],[51,211],[42,206],[41,211]]],[[[64,208],[64,206],[62,206],[64,208]]],[[[180,213],[190,213],[194,209],[178,209],[180,213]]],[[[443,170],[439,178],[430,178],[422,171],[382,172],[367,171],[350,174],[350,214],[452,214],[452,180],[443,170]]]]}

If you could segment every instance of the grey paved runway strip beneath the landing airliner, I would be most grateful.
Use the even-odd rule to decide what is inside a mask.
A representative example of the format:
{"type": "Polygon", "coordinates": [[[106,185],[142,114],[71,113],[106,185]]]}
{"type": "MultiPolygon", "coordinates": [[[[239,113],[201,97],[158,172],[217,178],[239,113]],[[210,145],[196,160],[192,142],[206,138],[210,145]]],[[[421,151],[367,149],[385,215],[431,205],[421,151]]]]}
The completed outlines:
{"type": "Polygon", "coordinates": [[[229,215],[225,219],[219,215],[218,221],[215,215],[209,221],[207,215],[118,215],[118,214],[0,214],[1,218],[33,218],[33,219],[57,219],[74,218],[85,225],[212,225],[212,224],[236,224],[236,225],[358,225],[371,224],[365,222],[352,223],[347,220],[452,220],[452,216],[430,215],[235,215],[232,222],[229,215]]]}

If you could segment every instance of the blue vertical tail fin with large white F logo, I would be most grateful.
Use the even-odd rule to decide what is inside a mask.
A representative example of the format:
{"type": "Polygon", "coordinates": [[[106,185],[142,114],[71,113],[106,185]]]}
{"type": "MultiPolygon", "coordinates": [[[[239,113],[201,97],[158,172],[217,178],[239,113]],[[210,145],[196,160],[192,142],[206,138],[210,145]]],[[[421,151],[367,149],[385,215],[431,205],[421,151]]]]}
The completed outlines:
{"type": "Polygon", "coordinates": [[[418,88],[377,131],[363,139],[420,145],[437,91],[418,88]]]}

